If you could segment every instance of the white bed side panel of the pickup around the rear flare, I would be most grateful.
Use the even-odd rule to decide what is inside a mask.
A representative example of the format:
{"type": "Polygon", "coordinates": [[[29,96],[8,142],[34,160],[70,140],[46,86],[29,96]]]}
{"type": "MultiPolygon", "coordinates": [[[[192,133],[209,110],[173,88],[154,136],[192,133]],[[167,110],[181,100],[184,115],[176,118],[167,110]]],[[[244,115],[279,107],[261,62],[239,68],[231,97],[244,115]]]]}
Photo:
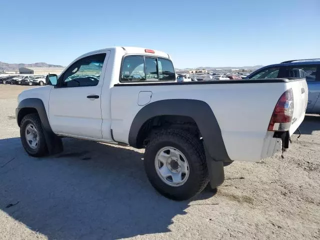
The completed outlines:
{"type": "MultiPolygon", "coordinates": [[[[211,107],[231,160],[261,158],[264,138],[273,108],[288,84],[227,83],[194,85],[137,85],[111,87],[111,128],[115,141],[128,143],[139,91],[152,91],[151,101],[197,99],[211,107]]],[[[210,129],[208,129],[210,130],[210,129]]]]}

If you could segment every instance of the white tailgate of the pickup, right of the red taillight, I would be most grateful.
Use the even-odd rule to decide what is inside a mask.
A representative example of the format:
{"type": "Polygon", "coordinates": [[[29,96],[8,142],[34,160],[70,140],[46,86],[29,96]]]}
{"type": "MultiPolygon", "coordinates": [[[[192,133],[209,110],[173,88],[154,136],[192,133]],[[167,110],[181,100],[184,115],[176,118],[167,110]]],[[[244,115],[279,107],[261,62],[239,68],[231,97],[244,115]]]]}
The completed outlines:
{"type": "Polygon", "coordinates": [[[308,101],[308,86],[305,78],[289,81],[288,85],[289,88],[292,88],[293,93],[293,116],[289,130],[290,135],[292,135],[304,118],[308,101]]]}

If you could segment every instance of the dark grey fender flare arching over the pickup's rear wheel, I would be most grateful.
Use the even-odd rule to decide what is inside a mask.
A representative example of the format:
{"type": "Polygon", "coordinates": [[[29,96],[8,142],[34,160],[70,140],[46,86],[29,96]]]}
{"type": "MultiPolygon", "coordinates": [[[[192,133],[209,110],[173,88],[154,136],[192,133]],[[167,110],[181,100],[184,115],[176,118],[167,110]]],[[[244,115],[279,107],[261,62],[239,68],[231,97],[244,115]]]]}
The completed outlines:
{"type": "Polygon", "coordinates": [[[142,148],[137,142],[137,136],[141,126],[148,119],[159,115],[191,117],[200,130],[209,155],[215,161],[231,161],[224,146],[219,124],[210,106],[200,100],[167,99],[145,105],[138,111],[131,123],[128,137],[129,145],[135,148],[142,148]]]}

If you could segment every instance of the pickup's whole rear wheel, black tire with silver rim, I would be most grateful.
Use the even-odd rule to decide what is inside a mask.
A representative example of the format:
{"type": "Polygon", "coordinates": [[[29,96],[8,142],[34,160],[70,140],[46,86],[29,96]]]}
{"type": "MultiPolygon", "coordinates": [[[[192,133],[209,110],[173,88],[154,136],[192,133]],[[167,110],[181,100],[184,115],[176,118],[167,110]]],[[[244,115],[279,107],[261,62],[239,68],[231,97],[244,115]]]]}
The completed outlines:
{"type": "Polygon", "coordinates": [[[145,148],[144,168],[152,186],[173,200],[189,199],[209,181],[200,140],[183,130],[153,135],[145,148]]]}

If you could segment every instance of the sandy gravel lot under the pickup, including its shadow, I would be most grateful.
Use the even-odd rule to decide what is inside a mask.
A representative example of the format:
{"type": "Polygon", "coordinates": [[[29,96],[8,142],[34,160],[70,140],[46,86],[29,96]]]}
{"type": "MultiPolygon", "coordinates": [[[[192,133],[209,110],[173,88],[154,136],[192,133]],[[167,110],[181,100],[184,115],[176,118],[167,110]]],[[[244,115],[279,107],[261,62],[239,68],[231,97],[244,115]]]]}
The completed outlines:
{"type": "Polygon", "coordinates": [[[64,152],[28,156],[14,116],[26,88],[0,84],[0,239],[320,239],[320,116],[284,159],[234,162],[217,192],[175,202],[142,150],[64,138],[64,152]]]}

